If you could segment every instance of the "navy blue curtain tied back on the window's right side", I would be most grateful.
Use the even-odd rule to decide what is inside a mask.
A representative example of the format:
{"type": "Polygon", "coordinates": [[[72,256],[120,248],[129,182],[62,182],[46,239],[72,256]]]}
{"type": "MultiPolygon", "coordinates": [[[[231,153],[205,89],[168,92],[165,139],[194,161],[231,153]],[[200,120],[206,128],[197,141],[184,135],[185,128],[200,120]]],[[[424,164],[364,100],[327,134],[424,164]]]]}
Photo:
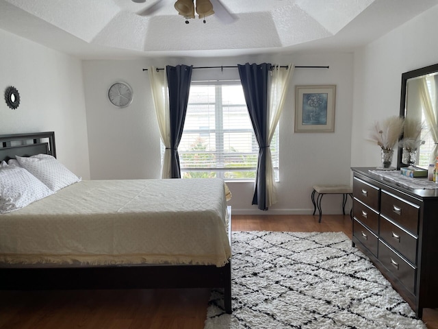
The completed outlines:
{"type": "Polygon", "coordinates": [[[261,210],[266,205],[266,147],[268,147],[268,77],[271,64],[237,65],[244,88],[246,106],[253,123],[255,137],[259,143],[259,159],[255,177],[253,204],[261,210]]]}

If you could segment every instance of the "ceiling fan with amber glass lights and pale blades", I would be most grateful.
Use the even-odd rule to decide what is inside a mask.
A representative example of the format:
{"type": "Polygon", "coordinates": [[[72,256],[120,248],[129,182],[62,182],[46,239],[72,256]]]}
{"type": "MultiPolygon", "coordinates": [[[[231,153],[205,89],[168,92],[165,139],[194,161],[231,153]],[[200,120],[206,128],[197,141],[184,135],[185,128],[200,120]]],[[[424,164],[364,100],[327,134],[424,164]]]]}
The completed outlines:
{"type": "MultiPolygon", "coordinates": [[[[146,0],[132,0],[135,3],[144,3],[146,0]]],[[[168,0],[158,0],[153,5],[137,12],[140,16],[151,16],[159,8],[166,5],[168,0]]],[[[205,17],[215,14],[215,16],[222,21],[222,23],[233,23],[237,20],[237,16],[229,11],[229,9],[222,3],[221,0],[177,0],[175,2],[175,9],[185,18],[185,23],[189,23],[189,19],[194,19],[196,3],[196,13],[200,19],[205,23],[205,17]]]]}

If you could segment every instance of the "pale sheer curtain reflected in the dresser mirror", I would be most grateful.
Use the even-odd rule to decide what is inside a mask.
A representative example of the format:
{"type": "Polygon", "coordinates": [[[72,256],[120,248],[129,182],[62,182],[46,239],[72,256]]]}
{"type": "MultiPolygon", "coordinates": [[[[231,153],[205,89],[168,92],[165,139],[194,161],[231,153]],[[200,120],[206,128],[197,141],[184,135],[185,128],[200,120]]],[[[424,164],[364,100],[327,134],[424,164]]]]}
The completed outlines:
{"type": "MultiPolygon", "coordinates": [[[[438,109],[435,106],[435,110],[434,110],[432,97],[430,97],[430,93],[427,87],[427,80],[421,79],[421,81],[422,82],[420,83],[420,95],[422,99],[424,116],[426,117],[426,123],[430,128],[430,136],[432,136],[433,142],[435,143],[435,146],[430,152],[429,163],[435,163],[438,154],[438,126],[437,126],[437,115],[435,113],[435,110],[438,109]]],[[[432,80],[430,80],[430,84],[432,84],[432,86],[435,86],[435,80],[433,78],[432,80]]]]}

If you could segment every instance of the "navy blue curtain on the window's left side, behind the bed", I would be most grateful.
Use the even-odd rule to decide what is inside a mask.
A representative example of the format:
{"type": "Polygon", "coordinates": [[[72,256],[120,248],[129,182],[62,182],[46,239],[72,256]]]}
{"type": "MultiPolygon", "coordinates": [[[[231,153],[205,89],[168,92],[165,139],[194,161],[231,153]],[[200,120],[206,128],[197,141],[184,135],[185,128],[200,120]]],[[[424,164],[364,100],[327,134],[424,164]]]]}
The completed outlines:
{"type": "Polygon", "coordinates": [[[181,178],[178,145],[183,134],[192,70],[193,66],[187,65],[166,66],[170,109],[171,178],[181,178]]]}

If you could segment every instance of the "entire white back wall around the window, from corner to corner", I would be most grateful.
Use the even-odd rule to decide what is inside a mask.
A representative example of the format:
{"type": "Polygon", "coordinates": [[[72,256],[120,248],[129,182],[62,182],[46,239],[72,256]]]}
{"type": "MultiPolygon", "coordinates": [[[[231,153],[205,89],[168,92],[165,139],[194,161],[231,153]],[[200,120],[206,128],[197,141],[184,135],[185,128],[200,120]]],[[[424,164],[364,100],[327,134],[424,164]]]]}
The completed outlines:
{"type": "MultiPolygon", "coordinates": [[[[233,213],[311,213],[313,184],[350,182],[350,136],[353,84],[352,53],[257,58],[191,58],[168,60],[84,61],[88,143],[92,179],[159,178],[159,131],[153,110],[149,77],[142,69],[149,65],[193,64],[194,66],[235,65],[245,62],[277,62],[296,65],[329,65],[330,69],[296,69],[280,120],[279,202],[268,212],[252,206],[253,183],[229,183],[233,213]],[[128,108],[118,109],[107,100],[107,89],[118,80],[128,82],[134,99],[128,108]],[[337,85],[335,132],[294,133],[295,86],[337,85]]],[[[194,70],[192,80],[238,79],[237,69],[194,70]]],[[[324,197],[324,213],[339,213],[342,198],[324,197]],[[335,202],[331,202],[334,200],[335,202]]]]}

